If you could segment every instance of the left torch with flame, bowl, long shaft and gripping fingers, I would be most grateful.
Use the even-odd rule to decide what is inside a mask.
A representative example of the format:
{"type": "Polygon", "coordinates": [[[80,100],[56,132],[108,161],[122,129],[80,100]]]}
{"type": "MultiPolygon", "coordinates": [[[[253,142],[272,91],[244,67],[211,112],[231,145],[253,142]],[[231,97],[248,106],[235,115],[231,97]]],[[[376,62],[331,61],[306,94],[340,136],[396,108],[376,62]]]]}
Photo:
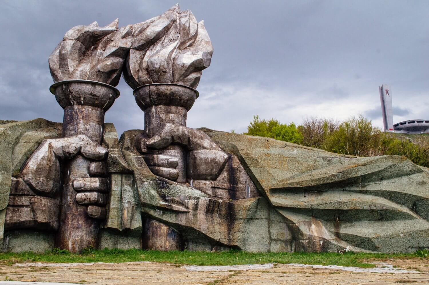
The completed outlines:
{"type": "Polygon", "coordinates": [[[97,22],[76,26],[66,33],[49,57],[55,82],[50,91],[64,109],[63,137],[75,136],[74,144],[68,147],[71,152],[81,149],[76,156],[63,161],[60,228],[56,239],[61,249],[80,252],[97,245],[100,219],[106,215],[107,198],[102,192],[108,191],[109,181],[94,177],[105,175],[106,167],[103,161],[88,159],[79,144],[87,143],[85,139],[89,138],[94,152],[97,145],[98,150],[101,148],[104,113],[119,96],[114,86],[119,82],[132,43],[131,34],[132,26],[118,29],[118,19],[106,27],[98,27],[97,22]],[[81,139],[76,141],[76,136],[81,139]]]}

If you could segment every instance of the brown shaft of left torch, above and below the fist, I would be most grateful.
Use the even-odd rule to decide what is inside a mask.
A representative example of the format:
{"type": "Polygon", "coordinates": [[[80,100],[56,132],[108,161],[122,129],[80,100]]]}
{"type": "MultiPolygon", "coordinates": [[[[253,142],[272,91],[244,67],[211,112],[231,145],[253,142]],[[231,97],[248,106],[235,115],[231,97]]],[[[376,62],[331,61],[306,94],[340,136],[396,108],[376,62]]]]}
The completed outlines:
{"type": "MultiPolygon", "coordinates": [[[[72,105],[64,109],[63,137],[87,135],[101,143],[103,137],[104,112],[101,108],[72,105]]],[[[76,202],[73,180],[89,176],[91,160],[78,154],[63,163],[63,192],[61,195],[60,228],[56,244],[60,249],[82,252],[90,246],[97,247],[100,220],[87,214],[87,207],[76,202]]]]}

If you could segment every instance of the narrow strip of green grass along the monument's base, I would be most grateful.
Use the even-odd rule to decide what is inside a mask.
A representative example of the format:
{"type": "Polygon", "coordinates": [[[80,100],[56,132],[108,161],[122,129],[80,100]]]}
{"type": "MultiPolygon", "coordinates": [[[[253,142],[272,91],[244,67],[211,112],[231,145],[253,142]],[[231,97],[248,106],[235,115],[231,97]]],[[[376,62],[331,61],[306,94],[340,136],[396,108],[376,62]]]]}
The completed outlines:
{"type": "Polygon", "coordinates": [[[129,262],[129,261],[153,261],[172,264],[190,265],[237,265],[237,264],[260,264],[260,263],[300,263],[300,264],[322,264],[341,265],[372,268],[374,264],[364,263],[367,258],[413,258],[416,254],[369,254],[369,253],[251,253],[240,251],[229,252],[189,252],[189,251],[146,251],[141,249],[103,249],[88,250],[82,254],[69,252],[46,252],[46,253],[0,253],[0,262],[12,265],[16,262],[129,262]]]}

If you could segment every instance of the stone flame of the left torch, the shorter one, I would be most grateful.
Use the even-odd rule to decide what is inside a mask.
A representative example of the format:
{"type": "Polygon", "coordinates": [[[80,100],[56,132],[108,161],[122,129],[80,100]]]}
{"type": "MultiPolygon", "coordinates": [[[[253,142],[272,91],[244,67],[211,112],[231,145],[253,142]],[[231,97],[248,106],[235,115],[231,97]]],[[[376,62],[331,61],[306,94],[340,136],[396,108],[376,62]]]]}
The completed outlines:
{"type": "Polygon", "coordinates": [[[86,79],[118,85],[132,33],[132,25],[118,29],[118,19],[106,27],[97,22],[73,27],[49,56],[54,82],[86,79]]]}

